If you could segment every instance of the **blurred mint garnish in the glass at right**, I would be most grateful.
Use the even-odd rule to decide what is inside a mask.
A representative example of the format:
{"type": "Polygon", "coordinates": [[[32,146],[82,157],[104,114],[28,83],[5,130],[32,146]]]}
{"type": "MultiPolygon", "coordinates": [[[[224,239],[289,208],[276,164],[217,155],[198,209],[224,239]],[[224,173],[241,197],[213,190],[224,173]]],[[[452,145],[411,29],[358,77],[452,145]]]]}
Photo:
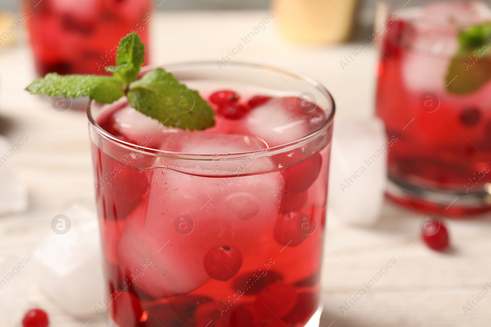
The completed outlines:
{"type": "Polygon", "coordinates": [[[445,84],[450,93],[464,95],[491,80],[491,22],[460,31],[458,40],[460,48],[450,61],[445,84]]]}

